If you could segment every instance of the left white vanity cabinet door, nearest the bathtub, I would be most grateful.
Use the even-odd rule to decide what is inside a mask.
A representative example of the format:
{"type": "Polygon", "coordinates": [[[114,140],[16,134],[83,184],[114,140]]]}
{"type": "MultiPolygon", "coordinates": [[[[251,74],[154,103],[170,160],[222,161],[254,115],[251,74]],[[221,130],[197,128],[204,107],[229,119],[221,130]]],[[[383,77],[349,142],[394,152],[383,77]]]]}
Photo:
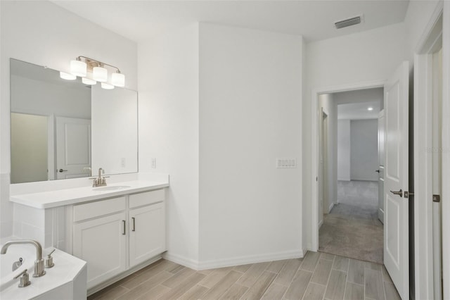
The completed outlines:
{"type": "Polygon", "coordinates": [[[73,255],[87,262],[88,289],[126,270],[126,218],[116,213],[73,226],[73,255]]]}

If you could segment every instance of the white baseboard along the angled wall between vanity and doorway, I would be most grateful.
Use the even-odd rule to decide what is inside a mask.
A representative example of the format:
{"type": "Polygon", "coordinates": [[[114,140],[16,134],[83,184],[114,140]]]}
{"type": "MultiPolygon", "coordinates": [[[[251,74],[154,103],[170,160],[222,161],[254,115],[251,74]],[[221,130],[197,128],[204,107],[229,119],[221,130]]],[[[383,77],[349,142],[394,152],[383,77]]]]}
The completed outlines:
{"type": "Polygon", "coordinates": [[[214,268],[224,268],[233,265],[247,265],[249,263],[262,263],[264,261],[280,261],[283,259],[290,258],[302,258],[304,257],[305,250],[298,249],[293,251],[283,251],[273,254],[260,254],[260,255],[252,255],[252,256],[238,256],[233,258],[223,258],[212,261],[193,261],[188,258],[184,258],[181,256],[173,255],[170,253],[166,253],[163,257],[167,259],[167,261],[172,261],[174,263],[179,263],[180,265],[184,265],[188,268],[194,270],[207,270],[214,268]]]}

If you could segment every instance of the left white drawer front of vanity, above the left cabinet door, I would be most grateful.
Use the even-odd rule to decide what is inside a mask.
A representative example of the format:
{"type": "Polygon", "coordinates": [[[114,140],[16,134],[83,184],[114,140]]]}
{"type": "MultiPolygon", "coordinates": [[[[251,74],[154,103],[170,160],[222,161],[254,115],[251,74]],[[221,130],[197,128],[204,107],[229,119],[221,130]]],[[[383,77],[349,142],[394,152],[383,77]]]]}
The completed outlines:
{"type": "Polygon", "coordinates": [[[95,201],[87,204],[75,205],[73,207],[73,220],[78,222],[89,218],[108,215],[117,211],[124,211],[127,208],[125,197],[95,201]]]}

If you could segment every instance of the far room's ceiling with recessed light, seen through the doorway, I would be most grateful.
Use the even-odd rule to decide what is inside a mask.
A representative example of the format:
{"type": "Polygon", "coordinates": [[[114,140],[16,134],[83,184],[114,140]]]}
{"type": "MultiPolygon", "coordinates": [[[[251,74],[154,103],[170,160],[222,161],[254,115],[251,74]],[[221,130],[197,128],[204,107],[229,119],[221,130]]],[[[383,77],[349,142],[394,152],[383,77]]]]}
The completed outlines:
{"type": "Polygon", "coordinates": [[[380,101],[359,102],[338,105],[338,120],[378,119],[380,101]],[[368,111],[367,108],[373,108],[368,111]]]}

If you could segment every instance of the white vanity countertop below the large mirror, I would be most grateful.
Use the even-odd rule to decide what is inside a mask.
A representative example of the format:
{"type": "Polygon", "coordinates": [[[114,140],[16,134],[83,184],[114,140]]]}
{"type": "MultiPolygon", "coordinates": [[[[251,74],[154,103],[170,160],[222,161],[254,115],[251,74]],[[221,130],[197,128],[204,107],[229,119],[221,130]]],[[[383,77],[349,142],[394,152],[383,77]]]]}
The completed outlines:
{"type": "Polygon", "coordinates": [[[98,190],[96,187],[75,187],[70,189],[58,189],[48,192],[11,195],[10,201],[32,206],[34,208],[53,208],[70,204],[79,204],[86,201],[133,194],[169,187],[169,180],[131,180],[114,182],[107,187],[121,186],[115,190],[98,190]]]}

